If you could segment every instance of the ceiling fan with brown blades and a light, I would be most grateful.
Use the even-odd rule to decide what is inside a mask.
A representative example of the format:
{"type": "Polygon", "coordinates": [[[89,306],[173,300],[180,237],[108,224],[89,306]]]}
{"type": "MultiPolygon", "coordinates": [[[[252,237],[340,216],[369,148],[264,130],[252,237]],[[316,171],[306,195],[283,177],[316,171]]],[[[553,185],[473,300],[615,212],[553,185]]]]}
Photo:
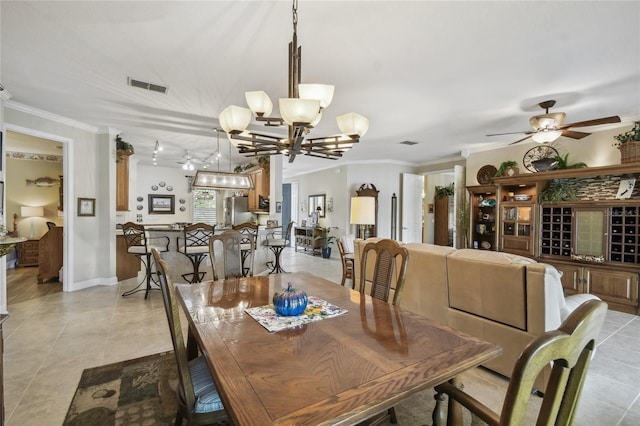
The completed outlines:
{"type": "Polygon", "coordinates": [[[515,142],[511,142],[509,145],[514,145],[525,141],[529,138],[533,138],[534,141],[545,143],[553,142],[560,136],[566,136],[572,139],[582,139],[585,136],[589,136],[591,133],[579,132],[577,130],[570,130],[573,127],[588,127],[598,126],[601,124],[619,123],[620,117],[617,115],[611,117],[595,118],[593,120],[578,121],[575,123],[563,124],[565,113],[564,112],[549,112],[549,108],[552,108],[556,104],[556,101],[551,99],[548,101],[540,102],[538,105],[545,110],[544,114],[533,116],[529,119],[529,124],[533,130],[524,132],[509,132],[509,133],[492,133],[487,136],[500,136],[500,135],[514,135],[524,133],[525,136],[522,139],[518,139],[515,142]]]}

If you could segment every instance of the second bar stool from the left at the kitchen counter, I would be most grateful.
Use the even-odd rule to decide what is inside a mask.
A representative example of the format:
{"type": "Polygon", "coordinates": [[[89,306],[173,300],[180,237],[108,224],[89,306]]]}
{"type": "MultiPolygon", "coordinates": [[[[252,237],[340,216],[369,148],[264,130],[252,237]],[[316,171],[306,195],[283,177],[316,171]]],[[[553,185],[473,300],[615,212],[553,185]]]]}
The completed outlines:
{"type": "Polygon", "coordinates": [[[206,272],[200,272],[200,264],[209,255],[209,239],[215,232],[215,225],[194,223],[183,229],[181,237],[176,239],[178,252],[187,256],[193,267],[193,272],[182,274],[187,282],[199,283],[206,272]]]}

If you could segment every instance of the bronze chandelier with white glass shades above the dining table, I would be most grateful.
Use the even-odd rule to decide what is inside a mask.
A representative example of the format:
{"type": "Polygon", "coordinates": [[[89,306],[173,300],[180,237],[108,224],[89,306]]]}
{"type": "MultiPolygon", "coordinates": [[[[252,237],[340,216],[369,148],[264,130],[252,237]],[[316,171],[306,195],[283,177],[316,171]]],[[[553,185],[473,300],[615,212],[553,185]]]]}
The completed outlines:
{"type": "Polygon", "coordinates": [[[229,140],[241,154],[274,155],[283,154],[292,163],[296,155],[337,160],[342,154],[358,143],[369,129],[369,120],[354,112],[336,117],[342,134],[308,138],[311,129],[322,118],[322,111],[333,99],[334,86],[326,84],[301,84],[302,47],[298,46],[298,1],[293,1],[293,39],[289,43],[289,89],[288,98],[279,99],[282,117],[270,117],[273,102],[263,91],[246,92],[249,108],[230,105],[218,117],[220,126],[229,140]],[[256,121],[268,127],[287,126],[288,135],[273,136],[249,132],[252,113],[256,121]]]}

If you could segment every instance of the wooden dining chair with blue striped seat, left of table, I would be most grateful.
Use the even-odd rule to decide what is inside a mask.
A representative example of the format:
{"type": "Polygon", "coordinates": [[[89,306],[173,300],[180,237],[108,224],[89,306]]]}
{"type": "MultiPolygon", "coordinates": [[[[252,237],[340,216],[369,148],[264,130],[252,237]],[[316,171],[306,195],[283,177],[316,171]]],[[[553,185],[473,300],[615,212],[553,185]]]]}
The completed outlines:
{"type": "Polygon", "coordinates": [[[203,356],[189,360],[180,324],[180,308],[176,300],[176,290],[171,281],[167,263],[156,249],[152,249],[157,266],[158,281],[169,323],[173,353],[178,368],[176,397],[178,411],[175,425],[187,419],[189,425],[217,424],[227,418],[218,390],[211,378],[203,356]]]}

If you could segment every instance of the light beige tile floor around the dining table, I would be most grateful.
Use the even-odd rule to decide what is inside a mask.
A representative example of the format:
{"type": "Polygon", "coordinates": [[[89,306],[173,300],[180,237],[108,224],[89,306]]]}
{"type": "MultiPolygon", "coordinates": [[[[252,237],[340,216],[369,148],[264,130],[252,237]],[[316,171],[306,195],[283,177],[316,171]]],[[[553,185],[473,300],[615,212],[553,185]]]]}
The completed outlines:
{"type": "MultiPolygon", "coordinates": [[[[340,282],[338,260],[286,249],[288,271],[340,282]]],[[[160,292],[123,298],[135,285],[94,287],[9,305],[4,326],[5,409],[8,426],[61,425],[85,368],[171,349],[160,292]]],[[[610,311],[587,377],[577,425],[640,424],[640,317],[610,311]]],[[[469,392],[499,410],[507,382],[484,369],[462,378],[469,392]]],[[[432,392],[424,398],[431,399],[432,392]]],[[[418,395],[422,398],[422,395],[418,395]]],[[[535,411],[536,399],[530,411],[535,411]]],[[[401,424],[431,423],[425,410],[401,424]]]]}

